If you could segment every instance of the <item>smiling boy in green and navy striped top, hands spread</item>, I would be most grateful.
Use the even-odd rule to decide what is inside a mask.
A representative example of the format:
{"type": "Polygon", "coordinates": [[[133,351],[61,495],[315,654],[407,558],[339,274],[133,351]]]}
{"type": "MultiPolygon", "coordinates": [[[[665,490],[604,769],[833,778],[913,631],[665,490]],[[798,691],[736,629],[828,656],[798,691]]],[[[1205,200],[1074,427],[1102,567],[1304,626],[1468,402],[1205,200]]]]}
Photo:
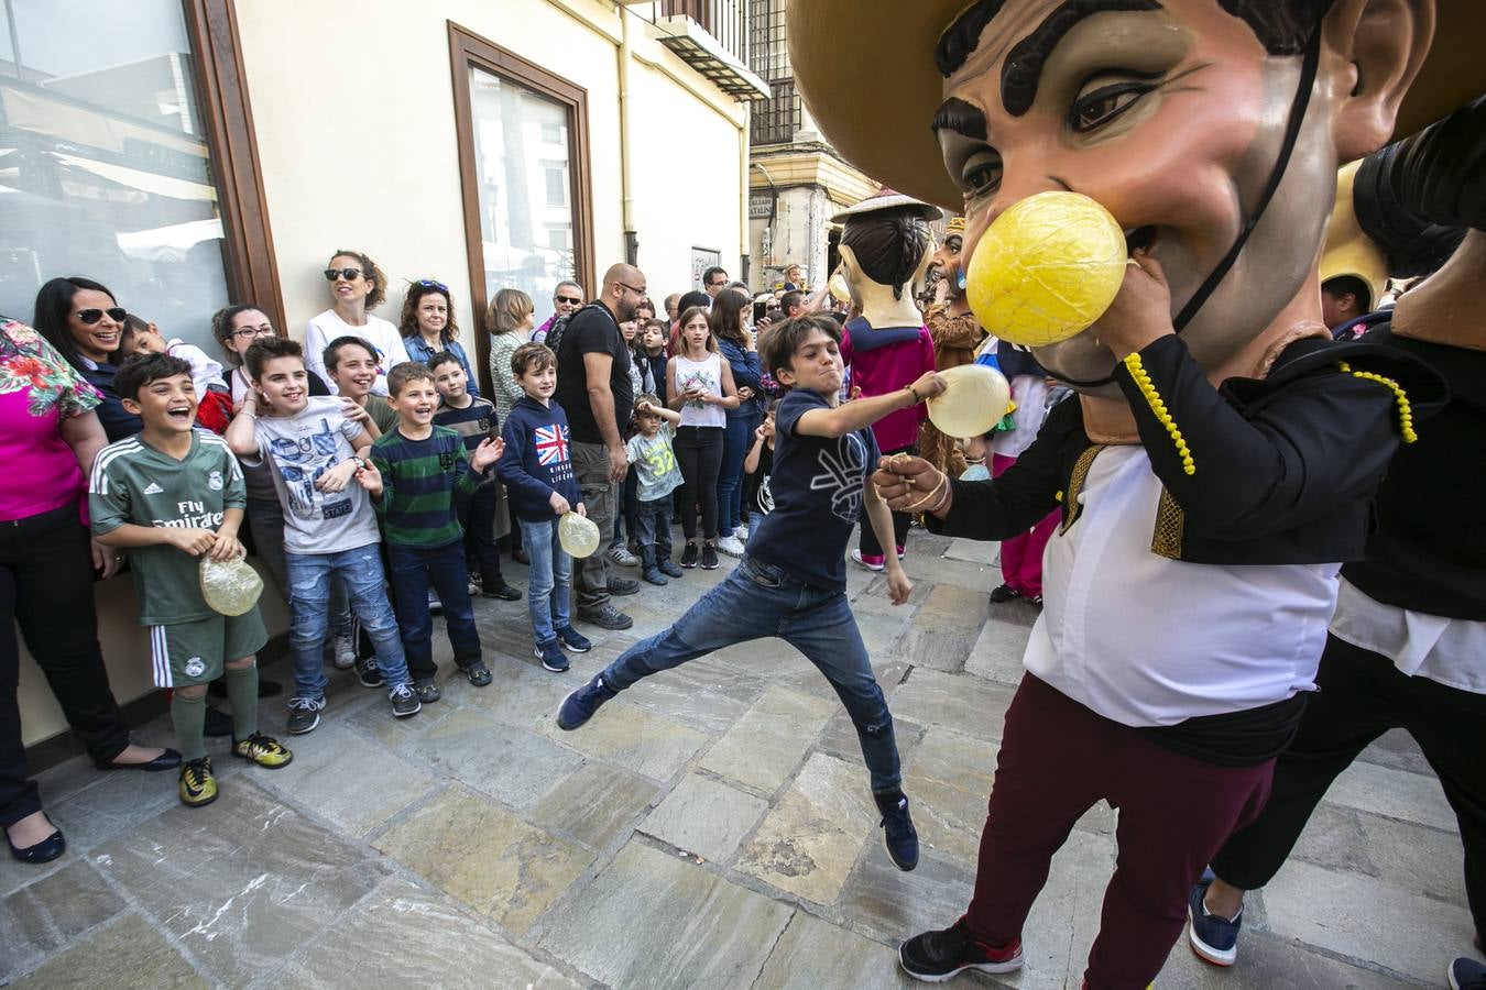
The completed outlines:
{"type": "Polygon", "coordinates": [[[388,404],[397,410],[397,429],[372,444],[372,462],[357,472],[382,517],[392,595],[403,652],[413,689],[424,702],[438,701],[434,675],[434,620],[428,588],[444,603],[444,625],[455,663],[470,683],[484,687],[490,669],[480,655],[480,634],[470,601],[464,527],[456,499],[468,499],[486,479],[505,444],[487,438],[468,454],[452,429],[435,426],[438,389],[426,365],[407,361],[386,376],[388,404]]]}

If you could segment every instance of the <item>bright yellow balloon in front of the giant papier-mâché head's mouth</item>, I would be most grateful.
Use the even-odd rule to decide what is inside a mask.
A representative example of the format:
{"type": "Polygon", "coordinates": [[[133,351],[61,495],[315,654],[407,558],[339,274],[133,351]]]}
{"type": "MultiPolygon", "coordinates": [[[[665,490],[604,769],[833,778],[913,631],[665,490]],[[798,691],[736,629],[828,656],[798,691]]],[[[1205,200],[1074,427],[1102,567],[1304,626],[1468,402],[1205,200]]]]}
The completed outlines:
{"type": "Polygon", "coordinates": [[[1125,233],[1079,193],[1037,193],[996,218],[975,246],[966,298],[987,332],[1025,347],[1076,337],[1125,281],[1125,233]]]}

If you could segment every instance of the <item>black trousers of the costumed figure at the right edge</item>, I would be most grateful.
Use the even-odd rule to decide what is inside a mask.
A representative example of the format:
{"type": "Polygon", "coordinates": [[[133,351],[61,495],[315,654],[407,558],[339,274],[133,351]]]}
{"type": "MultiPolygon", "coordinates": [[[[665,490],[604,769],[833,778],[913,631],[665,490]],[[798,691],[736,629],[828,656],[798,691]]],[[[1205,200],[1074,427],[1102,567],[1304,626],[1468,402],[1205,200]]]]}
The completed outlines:
{"type": "Polygon", "coordinates": [[[1486,941],[1486,695],[1401,674],[1392,662],[1328,637],[1320,692],[1306,704],[1290,750],[1275,764],[1274,791],[1248,828],[1233,833],[1213,871],[1256,891],[1279,871],[1331,781],[1367,744],[1406,729],[1440,776],[1465,845],[1465,895],[1486,941]]]}

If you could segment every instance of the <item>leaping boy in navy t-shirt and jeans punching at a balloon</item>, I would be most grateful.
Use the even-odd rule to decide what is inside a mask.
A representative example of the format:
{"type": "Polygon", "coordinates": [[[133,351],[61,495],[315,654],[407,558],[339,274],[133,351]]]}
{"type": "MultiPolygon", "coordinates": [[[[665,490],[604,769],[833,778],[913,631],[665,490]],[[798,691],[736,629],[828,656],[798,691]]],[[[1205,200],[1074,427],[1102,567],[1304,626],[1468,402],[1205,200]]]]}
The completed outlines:
{"type": "MultiPolygon", "coordinates": [[[[563,702],[562,729],[577,729],[636,681],[713,650],[777,635],[814,663],[846,705],[883,813],[887,853],[899,870],[918,865],[918,836],[902,791],[893,715],[846,598],[846,546],[866,499],[880,539],[892,536],[887,506],[868,478],[880,454],[872,423],[944,390],[933,373],[887,395],[841,404],[841,330],[802,316],[773,330],[762,355],[789,389],[776,411],[774,511],[749,536],[742,563],[670,629],[636,643],[563,702]]],[[[884,543],[886,546],[887,543],[884,543]]],[[[893,604],[912,583],[887,555],[893,604]]]]}

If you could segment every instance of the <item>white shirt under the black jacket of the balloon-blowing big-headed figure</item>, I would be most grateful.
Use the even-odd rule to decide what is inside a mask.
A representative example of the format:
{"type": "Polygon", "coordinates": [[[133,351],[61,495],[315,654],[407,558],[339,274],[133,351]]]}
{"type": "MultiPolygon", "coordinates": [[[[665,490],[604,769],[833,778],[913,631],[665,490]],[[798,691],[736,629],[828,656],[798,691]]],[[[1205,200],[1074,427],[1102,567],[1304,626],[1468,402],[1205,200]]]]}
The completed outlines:
{"type": "Polygon", "coordinates": [[[1247,711],[1315,689],[1340,564],[1190,564],[1150,549],[1161,479],[1143,447],[1089,468],[1043,554],[1022,663],[1126,726],[1247,711]]]}

